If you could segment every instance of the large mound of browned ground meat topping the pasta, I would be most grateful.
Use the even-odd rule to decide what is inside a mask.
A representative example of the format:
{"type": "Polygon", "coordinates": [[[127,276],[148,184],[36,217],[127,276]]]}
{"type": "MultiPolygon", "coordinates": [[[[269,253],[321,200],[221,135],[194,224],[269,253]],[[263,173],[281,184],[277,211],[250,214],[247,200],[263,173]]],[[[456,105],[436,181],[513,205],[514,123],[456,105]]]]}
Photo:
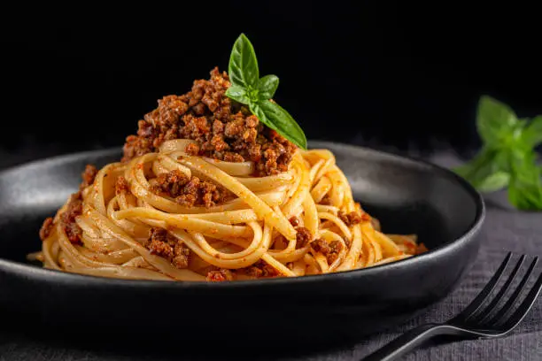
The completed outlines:
{"type": "Polygon", "coordinates": [[[122,160],[156,151],[166,140],[186,138],[197,142],[187,146],[190,155],[252,160],[256,175],[288,170],[296,147],[225,96],[229,86],[228,74],[214,68],[209,81],[194,81],[187,94],[159,100],[158,108],[138,122],[137,134],[127,137],[122,160]]]}

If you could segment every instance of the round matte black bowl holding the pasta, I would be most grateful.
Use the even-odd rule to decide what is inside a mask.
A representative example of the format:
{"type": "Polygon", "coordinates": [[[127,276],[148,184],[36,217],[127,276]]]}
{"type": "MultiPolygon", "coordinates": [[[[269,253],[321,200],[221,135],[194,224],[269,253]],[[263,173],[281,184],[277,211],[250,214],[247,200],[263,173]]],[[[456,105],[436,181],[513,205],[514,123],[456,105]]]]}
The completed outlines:
{"type": "Polygon", "coordinates": [[[355,198],[386,233],[419,234],[429,252],[345,273],[225,283],[112,280],[28,265],[38,230],[74,192],[84,165],[120,150],[54,157],[0,173],[0,307],[48,326],[222,340],[360,337],[412,318],[446,296],[476,258],[482,198],[435,165],[329,142],[355,198]],[[161,331],[161,332],[160,332],[161,331]]]}

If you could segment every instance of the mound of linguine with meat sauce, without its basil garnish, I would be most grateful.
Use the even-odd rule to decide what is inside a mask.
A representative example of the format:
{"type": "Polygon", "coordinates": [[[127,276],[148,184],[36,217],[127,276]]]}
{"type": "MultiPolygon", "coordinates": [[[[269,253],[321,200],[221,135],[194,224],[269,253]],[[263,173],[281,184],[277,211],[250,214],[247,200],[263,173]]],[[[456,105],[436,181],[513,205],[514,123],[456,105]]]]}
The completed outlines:
{"type": "Polygon", "coordinates": [[[228,96],[231,61],[159,100],[118,163],[87,165],[29,257],[69,273],[224,281],[343,272],[425,250],[415,235],[381,232],[329,150],[299,147],[263,103],[228,96]]]}

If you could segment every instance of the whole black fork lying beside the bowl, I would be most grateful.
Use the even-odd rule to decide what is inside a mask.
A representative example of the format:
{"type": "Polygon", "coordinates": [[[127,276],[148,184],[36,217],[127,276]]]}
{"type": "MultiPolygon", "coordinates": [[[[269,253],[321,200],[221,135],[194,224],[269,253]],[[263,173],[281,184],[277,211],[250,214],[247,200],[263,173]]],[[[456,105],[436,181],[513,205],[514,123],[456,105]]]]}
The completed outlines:
{"type": "MultiPolygon", "coordinates": [[[[476,338],[494,338],[509,334],[515,326],[517,326],[530,311],[531,307],[537,300],[540,290],[542,289],[542,273],[538,275],[538,280],[530,288],[529,294],[523,299],[523,302],[514,308],[515,303],[520,299],[523,291],[528,287],[528,281],[534,272],[538,262],[538,257],[534,257],[519,281],[519,284],[512,291],[507,302],[501,307],[497,307],[499,301],[507,294],[507,291],[512,288],[514,280],[517,279],[522,265],[525,261],[525,255],[521,256],[515,264],[512,273],[509,274],[507,280],[492,301],[484,306],[486,301],[489,301],[493,290],[497,287],[499,280],[502,278],[507,265],[510,264],[512,252],[507,254],[502,264],[499,266],[497,273],[485,285],[484,289],[476,296],[476,298],[468,304],[467,308],[453,319],[449,319],[444,323],[430,323],[413,328],[402,334],[392,342],[383,346],[382,349],[377,349],[376,352],[363,358],[364,361],[390,361],[406,355],[412,349],[420,346],[422,342],[429,340],[438,335],[453,335],[463,339],[476,338]]],[[[535,276],[536,277],[536,276],[535,276]]]]}

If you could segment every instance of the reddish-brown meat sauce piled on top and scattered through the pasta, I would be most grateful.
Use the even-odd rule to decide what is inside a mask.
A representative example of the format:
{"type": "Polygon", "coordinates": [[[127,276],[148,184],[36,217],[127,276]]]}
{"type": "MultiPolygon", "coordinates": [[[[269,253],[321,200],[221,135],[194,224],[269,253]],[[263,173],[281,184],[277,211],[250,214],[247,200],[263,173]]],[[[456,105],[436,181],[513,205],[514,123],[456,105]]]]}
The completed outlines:
{"type": "MultiPolygon", "coordinates": [[[[265,127],[243,104],[225,96],[230,86],[228,74],[211,71],[209,80],[194,81],[191,90],[182,96],[164,96],[158,107],[145,114],[137,123],[137,133],[129,135],[123,147],[122,162],[134,157],[155,152],[159,146],[174,139],[190,139],[185,151],[194,156],[212,157],[227,162],[252,161],[255,164],[254,176],[283,173],[288,170],[294,144],[265,127]]],[[[80,190],[74,193],[59,217],[59,223],[70,242],[81,243],[81,227],[75,219],[82,212],[82,190],[94,182],[97,169],[87,165],[81,174],[80,190]]],[[[200,180],[196,176],[187,177],[173,171],[159,174],[151,180],[151,191],[170,196],[184,206],[212,207],[223,204],[235,196],[228,189],[212,181],[200,180]]],[[[116,192],[129,192],[128,181],[120,177],[116,192]]],[[[297,225],[296,225],[297,226],[297,225]]],[[[45,240],[54,227],[53,219],[43,222],[40,237],[45,240]]],[[[310,242],[311,234],[306,228],[296,227],[298,244],[310,242]]],[[[186,268],[190,260],[190,249],[166,230],[151,228],[149,238],[143,242],[152,254],[166,258],[177,268],[186,268]]],[[[240,270],[240,273],[256,277],[273,277],[275,269],[264,262],[240,270]]],[[[207,280],[233,280],[235,273],[225,270],[212,270],[207,280]]]]}

